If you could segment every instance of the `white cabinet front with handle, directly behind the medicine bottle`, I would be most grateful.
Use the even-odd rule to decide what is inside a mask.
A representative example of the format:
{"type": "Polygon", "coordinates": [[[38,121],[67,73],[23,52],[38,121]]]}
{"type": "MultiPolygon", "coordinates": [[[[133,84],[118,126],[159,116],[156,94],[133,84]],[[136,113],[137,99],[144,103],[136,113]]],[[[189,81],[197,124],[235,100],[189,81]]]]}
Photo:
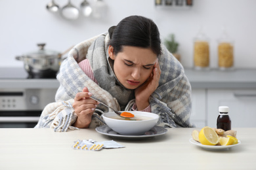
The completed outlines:
{"type": "Polygon", "coordinates": [[[256,127],[255,90],[207,90],[207,126],[215,127],[219,106],[230,108],[232,127],[256,127]]]}

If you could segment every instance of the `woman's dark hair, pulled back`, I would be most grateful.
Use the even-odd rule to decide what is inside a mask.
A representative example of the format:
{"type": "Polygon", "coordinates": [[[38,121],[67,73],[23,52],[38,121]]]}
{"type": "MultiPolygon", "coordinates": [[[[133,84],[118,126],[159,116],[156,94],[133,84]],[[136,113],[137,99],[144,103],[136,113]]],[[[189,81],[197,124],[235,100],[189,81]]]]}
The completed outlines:
{"type": "Polygon", "coordinates": [[[161,39],[158,26],[150,19],[143,16],[128,16],[109,29],[110,42],[114,53],[122,51],[123,46],[137,46],[151,48],[161,55],[161,39]]]}

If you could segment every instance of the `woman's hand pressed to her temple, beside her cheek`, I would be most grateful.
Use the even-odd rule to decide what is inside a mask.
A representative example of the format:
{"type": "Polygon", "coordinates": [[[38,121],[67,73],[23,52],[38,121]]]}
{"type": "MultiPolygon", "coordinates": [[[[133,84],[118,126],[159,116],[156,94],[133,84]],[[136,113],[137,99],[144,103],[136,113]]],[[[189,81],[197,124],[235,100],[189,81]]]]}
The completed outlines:
{"type": "Polygon", "coordinates": [[[158,88],[159,80],[161,75],[160,65],[158,59],[154,64],[152,74],[139,88],[135,90],[135,103],[137,110],[143,110],[149,105],[150,95],[158,88]]]}

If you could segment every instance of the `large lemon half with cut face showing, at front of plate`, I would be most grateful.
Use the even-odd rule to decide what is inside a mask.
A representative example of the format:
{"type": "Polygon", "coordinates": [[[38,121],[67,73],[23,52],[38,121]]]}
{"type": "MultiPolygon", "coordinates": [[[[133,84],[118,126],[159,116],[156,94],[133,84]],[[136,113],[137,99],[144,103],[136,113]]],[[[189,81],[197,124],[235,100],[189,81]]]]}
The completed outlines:
{"type": "Polygon", "coordinates": [[[208,126],[201,129],[198,138],[200,143],[205,145],[216,145],[219,143],[219,136],[211,127],[208,126]]]}

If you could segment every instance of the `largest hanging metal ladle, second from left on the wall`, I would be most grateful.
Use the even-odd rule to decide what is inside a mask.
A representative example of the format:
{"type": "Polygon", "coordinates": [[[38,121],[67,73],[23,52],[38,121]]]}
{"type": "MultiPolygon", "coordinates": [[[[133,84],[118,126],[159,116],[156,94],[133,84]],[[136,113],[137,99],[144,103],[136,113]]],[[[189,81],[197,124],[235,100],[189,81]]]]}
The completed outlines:
{"type": "Polygon", "coordinates": [[[68,4],[62,8],[61,14],[68,20],[76,20],[79,16],[79,10],[69,0],[68,4]]]}

